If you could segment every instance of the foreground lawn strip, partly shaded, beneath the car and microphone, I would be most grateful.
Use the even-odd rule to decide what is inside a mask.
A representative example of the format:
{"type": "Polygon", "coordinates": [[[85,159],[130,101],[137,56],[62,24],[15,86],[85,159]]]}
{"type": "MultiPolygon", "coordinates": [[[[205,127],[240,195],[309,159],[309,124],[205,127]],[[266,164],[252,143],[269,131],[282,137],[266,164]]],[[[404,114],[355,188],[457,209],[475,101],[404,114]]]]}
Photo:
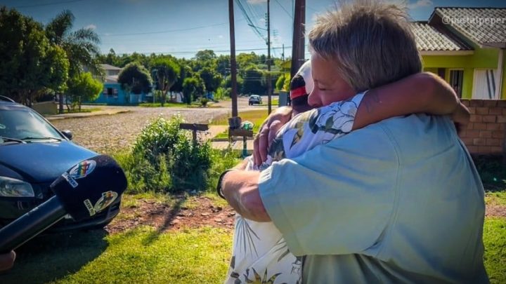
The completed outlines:
{"type": "Polygon", "coordinates": [[[2,283],[222,283],[231,233],[205,227],[160,234],[141,226],[38,239],[18,251],[2,283]]]}

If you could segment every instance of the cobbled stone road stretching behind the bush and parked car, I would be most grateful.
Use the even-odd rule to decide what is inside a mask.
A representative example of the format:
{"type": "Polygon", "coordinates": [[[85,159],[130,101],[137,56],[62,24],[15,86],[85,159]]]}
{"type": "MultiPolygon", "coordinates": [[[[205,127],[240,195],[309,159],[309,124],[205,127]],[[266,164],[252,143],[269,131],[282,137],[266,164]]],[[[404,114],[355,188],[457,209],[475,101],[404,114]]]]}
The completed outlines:
{"type": "MultiPolygon", "coordinates": [[[[128,112],[106,115],[90,116],[75,119],[59,119],[51,121],[60,130],[71,130],[74,142],[101,154],[109,154],[117,149],[130,147],[135,137],[148,123],[163,116],[169,119],[179,113],[188,123],[209,123],[219,116],[231,116],[231,101],[219,102],[219,107],[209,108],[168,108],[168,107],[108,107],[126,109],[128,112]]],[[[248,106],[247,97],[238,100],[240,111],[247,109],[266,108],[261,106],[248,106]]]]}

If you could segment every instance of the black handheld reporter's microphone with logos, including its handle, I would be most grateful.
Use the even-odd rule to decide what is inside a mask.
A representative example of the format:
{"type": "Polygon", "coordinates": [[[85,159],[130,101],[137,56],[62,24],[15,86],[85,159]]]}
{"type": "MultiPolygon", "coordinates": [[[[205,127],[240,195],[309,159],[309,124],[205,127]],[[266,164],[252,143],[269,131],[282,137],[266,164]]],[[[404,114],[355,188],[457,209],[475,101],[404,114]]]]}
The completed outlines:
{"type": "Polygon", "coordinates": [[[93,217],[120,197],[126,185],[122,168],[110,156],[77,163],[51,184],[55,196],[0,229],[0,253],[15,250],[67,214],[77,222],[93,217]]]}

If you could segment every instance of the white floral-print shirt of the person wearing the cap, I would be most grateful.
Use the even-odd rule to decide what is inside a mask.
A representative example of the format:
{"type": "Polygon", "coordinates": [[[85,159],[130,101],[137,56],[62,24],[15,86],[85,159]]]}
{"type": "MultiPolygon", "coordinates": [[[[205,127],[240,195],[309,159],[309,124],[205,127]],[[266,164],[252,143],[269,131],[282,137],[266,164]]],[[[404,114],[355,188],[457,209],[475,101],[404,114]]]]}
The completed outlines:
{"type": "MultiPolygon", "coordinates": [[[[260,167],[249,157],[247,170],[263,170],[273,161],[294,158],[318,144],[351,132],[363,93],[294,116],[275,137],[260,167]]],[[[272,222],[254,222],[235,215],[233,252],[225,283],[301,283],[301,257],[290,253],[272,222]]]]}

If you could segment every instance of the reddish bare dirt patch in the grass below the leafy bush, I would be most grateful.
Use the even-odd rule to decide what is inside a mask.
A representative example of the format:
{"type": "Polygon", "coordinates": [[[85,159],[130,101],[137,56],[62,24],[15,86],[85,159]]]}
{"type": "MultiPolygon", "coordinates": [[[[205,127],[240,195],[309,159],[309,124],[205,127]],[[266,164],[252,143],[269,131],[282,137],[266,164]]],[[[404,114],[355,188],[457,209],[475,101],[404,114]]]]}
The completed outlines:
{"type": "Polygon", "coordinates": [[[148,199],[138,199],[134,206],[126,206],[105,230],[109,234],[121,233],[136,226],[153,226],[158,231],[177,230],[181,228],[197,228],[214,226],[233,229],[235,210],[230,206],[214,205],[205,196],[191,196],[188,207],[183,204],[183,196],[176,198],[174,205],[158,203],[148,199]]]}

